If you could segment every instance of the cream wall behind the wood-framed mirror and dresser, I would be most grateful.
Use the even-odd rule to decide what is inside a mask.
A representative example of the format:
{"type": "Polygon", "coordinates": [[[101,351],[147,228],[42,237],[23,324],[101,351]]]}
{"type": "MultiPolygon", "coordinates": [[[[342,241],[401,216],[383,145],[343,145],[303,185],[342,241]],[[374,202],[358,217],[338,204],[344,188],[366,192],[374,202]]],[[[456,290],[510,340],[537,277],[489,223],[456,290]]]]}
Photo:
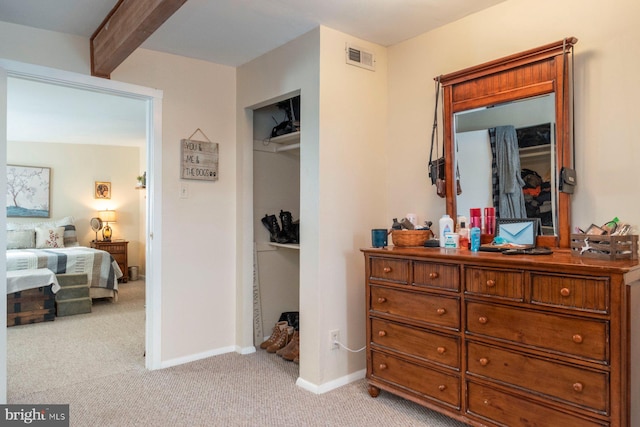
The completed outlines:
{"type": "MultiPolygon", "coordinates": [[[[636,227],[640,160],[633,124],[640,96],[640,3],[509,0],[389,48],[389,212],[417,211],[434,222],[442,199],[427,185],[433,77],[539,45],[578,38],[575,47],[578,187],[572,225],[618,216],[636,227]],[[412,155],[407,155],[412,153],[412,155]]],[[[464,191],[464,188],[463,188],[464,191]]]]}

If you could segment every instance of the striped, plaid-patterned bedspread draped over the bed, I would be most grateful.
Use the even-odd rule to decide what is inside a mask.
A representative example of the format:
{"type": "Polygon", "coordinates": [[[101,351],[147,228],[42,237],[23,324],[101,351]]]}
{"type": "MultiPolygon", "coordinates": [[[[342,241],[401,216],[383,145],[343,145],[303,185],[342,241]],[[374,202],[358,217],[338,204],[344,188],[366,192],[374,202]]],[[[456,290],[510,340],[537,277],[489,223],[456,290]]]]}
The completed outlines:
{"type": "Polygon", "coordinates": [[[109,252],[75,246],[59,249],[9,249],[7,271],[48,268],[56,274],[84,273],[89,286],[118,289],[122,271],[109,252]]]}

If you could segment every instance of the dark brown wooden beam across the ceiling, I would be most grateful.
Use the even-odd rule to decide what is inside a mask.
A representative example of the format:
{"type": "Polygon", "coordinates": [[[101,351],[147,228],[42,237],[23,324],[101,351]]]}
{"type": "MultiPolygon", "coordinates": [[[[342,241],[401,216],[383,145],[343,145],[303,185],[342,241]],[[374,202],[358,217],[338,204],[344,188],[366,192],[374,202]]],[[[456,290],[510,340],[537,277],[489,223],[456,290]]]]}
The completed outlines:
{"type": "Polygon", "coordinates": [[[91,36],[91,75],[108,79],[186,1],[118,1],[91,36]]]}

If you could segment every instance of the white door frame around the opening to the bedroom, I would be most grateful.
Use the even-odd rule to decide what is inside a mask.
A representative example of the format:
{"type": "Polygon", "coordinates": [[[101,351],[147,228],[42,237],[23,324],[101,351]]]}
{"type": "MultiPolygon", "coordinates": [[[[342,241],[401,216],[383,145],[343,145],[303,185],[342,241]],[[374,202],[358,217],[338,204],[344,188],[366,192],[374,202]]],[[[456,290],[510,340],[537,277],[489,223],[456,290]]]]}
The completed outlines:
{"type": "MultiPolygon", "coordinates": [[[[7,79],[34,80],[75,89],[124,96],[146,102],[147,198],[145,245],[145,367],[161,368],[161,265],[162,265],[162,97],[158,89],[117,82],[85,74],[0,58],[0,194],[6,194],[7,79]]],[[[5,202],[6,204],[6,202],[5,202]]],[[[0,212],[6,223],[6,209],[0,212]]],[[[6,278],[6,227],[0,227],[0,276],[6,278]]],[[[0,295],[6,295],[6,279],[0,281],[0,295]]],[[[0,304],[0,404],[7,400],[7,306],[0,304]]]]}

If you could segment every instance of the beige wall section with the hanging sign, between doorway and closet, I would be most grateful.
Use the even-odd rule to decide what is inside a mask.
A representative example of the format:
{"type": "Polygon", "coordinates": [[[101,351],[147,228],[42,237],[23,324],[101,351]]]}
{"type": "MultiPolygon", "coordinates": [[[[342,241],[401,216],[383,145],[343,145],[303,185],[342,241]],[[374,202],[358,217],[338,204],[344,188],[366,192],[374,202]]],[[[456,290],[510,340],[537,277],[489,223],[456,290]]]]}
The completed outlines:
{"type": "Polygon", "coordinates": [[[163,364],[235,347],[235,69],[139,49],[113,80],[162,89],[163,364]],[[180,179],[180,140],[219,144],[218,181],[180,179]],[[182,199],[180,186],[188,186],[182,199]]]}

